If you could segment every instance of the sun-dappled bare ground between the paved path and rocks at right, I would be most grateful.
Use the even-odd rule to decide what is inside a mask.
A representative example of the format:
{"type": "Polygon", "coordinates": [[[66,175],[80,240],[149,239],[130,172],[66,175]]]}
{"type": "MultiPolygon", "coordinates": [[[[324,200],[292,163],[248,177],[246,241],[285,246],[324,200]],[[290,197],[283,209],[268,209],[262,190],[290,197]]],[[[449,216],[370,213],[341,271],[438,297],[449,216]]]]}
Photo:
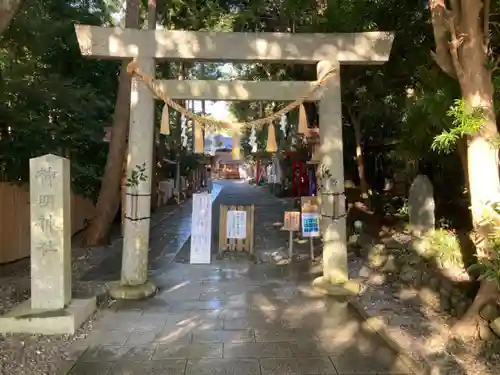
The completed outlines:
{"type": "Polygon", "coordinates": [[[366,274],[363,265],[363,259],[350,254],[350,277],[363,280],[358,303],[370,316],[382,318],[393,341],[416,361],[427,362],[431,374],[500,374],[500,340],[462,343],[450,338],[454,318],[441,310],[437,299],[424,303],[418,290],[376,272],[366,274]]]}

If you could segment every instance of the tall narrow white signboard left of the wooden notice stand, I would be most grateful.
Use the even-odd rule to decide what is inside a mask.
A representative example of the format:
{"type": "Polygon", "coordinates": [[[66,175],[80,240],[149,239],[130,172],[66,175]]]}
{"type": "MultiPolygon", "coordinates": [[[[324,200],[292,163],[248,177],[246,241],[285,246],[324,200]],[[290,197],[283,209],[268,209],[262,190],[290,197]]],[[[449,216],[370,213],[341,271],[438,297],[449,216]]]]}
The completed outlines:
{"type": "Polygon", "coordinates": [[[191,264],[210,264],[212,253],[212,199],[208,192],[193,194],[191,264]]]}

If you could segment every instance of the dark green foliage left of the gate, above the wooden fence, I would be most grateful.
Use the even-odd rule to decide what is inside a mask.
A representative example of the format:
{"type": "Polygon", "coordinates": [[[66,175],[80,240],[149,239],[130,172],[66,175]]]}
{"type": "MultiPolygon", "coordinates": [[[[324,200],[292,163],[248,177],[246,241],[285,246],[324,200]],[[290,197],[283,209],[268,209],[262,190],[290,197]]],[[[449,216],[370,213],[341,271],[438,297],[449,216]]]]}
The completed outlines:
{"type": "Polygon", "coordinates": [[[71,159],[73,189],[94,197],[111,125],[118,63],[81,56],[75,23],[111,22],[103,0],[25,1],[0,38],[0,177],[26,182],[29,159],[71,159]]]}

